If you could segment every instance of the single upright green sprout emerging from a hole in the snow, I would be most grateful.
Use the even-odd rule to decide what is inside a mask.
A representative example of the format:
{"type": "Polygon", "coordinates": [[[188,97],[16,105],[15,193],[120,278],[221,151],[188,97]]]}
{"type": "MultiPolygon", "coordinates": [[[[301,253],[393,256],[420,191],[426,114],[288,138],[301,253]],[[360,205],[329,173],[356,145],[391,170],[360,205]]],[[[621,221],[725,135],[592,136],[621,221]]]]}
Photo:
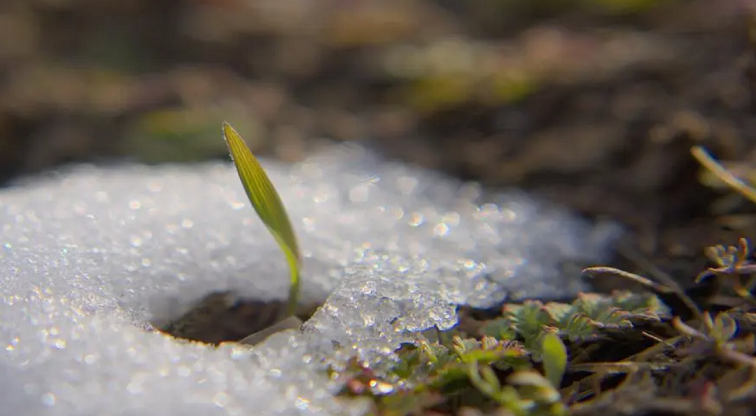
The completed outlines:
{"type": "Polygon", "coordinates": [[[227,122],[223,122],[223,137],[231,153],[231,159],[236,165],[244,191],[247,193],[252,207],[263,221],[268,231],[278,242],[281,251],[286,256],[291,272],[291,287],[289,288],[289,302],[287,316],[293,316],[299,303],[299,268],[301,256],[294,228],[291,226],[289,216],[281,202],[281,197],[276,188],[268,179],[260,162],[249,150],[244,139],[227,122]]]}

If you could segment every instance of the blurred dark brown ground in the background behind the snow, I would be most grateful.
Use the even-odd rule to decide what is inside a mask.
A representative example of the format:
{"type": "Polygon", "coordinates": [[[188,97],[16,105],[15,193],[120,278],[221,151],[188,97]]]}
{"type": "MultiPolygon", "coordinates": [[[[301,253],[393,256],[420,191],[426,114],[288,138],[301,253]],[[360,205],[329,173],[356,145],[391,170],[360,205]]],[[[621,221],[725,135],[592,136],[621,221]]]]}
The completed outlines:
{"type": "Polygon", "coordinates": [[[754,7],[3,0],[0,183],[69,162],[226,158],[228,120],[259,155],[365,142],[618,220],[648,255],[699,255],[756,229],[689,152],[756,155],[754,7]]]}

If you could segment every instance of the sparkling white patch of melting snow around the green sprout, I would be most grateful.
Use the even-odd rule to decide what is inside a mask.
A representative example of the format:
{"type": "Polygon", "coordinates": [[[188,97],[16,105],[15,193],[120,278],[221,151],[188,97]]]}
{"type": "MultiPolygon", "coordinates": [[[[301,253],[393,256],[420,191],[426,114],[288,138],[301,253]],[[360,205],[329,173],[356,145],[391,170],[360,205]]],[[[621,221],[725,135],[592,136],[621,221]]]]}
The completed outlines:
{"type": "Polygon", "coordinates": [[[390,357],[413,331],[455,325],[454,304],[574,294],[560,262],[600,261],[615,234],[359,148],[263,164],[300,237],[304,298],[328,300],[304,333],[254,349],[151,326],[213,291],[287,294],[230,164],[81,166],[0,190],[2,413],[359,414],[333,398],[326,363],[390,357]]]}

